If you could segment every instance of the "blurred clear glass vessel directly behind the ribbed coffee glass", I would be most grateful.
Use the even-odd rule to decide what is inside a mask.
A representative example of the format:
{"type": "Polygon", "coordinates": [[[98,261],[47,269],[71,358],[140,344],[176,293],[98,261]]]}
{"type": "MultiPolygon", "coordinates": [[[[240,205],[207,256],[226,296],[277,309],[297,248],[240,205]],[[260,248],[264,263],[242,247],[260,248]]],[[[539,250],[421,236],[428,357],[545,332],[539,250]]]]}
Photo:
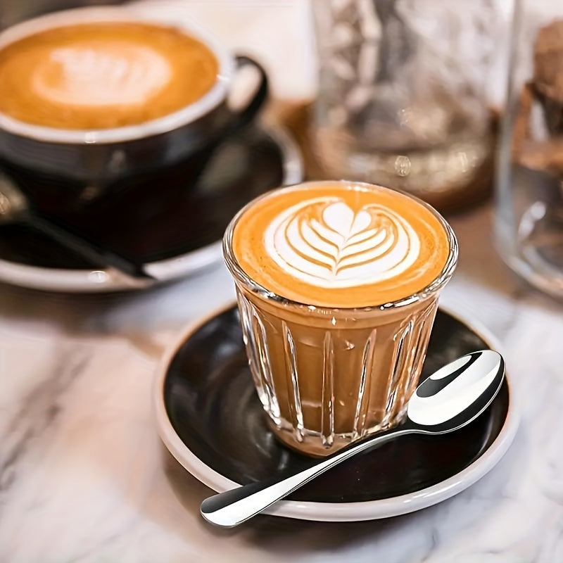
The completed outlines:
{"type": "Polygon", "coordinates": [[[315,158],[331,177],[403,189],[441,210],[491,192],[493,0],[312,0],[315,158]]]}

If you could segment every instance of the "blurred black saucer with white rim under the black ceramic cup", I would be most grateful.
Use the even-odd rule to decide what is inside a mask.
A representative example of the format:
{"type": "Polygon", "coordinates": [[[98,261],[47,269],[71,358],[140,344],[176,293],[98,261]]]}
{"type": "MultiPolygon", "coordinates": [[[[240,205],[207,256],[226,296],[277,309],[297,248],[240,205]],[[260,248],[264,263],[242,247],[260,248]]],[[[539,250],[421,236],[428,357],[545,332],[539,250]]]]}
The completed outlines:
{"type": "MultiPolygon", "coordinates": [[[[220,258],[224,229],[244,204],[302,177],[301,156],[289,134],[250,126],[217,148],[196,186],[183,195],[166,198],[155,179],[153,196],[118,194],[106,208],[65,220],[76,232],[168,281],[220,258]]],[[[177,189],[168,192],[182,194],[182,177],[172,181],[177,189]]],[[[0,226],[0,281],[48,291],[127,289],[122,280],[25,224],[0,226]]]]}

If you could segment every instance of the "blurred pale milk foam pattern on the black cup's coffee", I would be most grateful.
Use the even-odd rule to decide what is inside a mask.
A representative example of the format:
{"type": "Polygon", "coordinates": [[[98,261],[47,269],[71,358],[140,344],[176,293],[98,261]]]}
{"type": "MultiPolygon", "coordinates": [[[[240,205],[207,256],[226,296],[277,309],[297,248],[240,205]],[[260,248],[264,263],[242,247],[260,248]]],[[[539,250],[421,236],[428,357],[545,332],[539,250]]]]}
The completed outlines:
{"type": "Polygon", "coordinates": [[[167,60],[146,46],[86,42],[53,49],[32,76],[36,94],[73,106],[142,104],[172,77],[167,60]]]}

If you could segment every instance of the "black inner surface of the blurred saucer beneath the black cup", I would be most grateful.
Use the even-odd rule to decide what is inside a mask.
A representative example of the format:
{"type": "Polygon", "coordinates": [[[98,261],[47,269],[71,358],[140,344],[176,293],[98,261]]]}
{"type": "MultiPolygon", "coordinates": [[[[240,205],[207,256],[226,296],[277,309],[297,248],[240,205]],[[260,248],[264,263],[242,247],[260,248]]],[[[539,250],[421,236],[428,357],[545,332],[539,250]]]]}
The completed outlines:
{"type": "MultiPolygon", "coordinates": [[[[246,127],[217,149],[194,189],[184,193],[182,177],[169,178],[172,186],[155,179],[151,194],[117,194],[110,205],[90,205],[62,219],[77,233],[134,262],[186,255],[219,241],[234,213],[255,196],[301,180],[292,143],[284,132],[246,127]]],[[[92,267],[25,224],[0,226],[0,260],[49,270],[92,267]]]]}

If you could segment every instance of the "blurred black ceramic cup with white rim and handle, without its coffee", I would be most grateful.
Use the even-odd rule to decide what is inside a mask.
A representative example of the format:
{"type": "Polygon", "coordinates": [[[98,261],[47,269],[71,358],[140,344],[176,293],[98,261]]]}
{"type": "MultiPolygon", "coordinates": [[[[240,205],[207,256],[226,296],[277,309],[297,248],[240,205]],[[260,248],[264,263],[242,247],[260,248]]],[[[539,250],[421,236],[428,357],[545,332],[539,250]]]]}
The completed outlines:
{"type": "MultiPolygon", "coordinates": [[[[171,25],[131,7],[77,8],[8,28],[0,33],[0,49],[44,30],[108,21],[171,25]]],[[[64,217],[87,213],[90,205],[110,205],[124,192],[134,201],[137,195],[189,191],[217,144],[259,113],[268,90],[260,65],[234,56],[196,25],[172,25],[207,46],[219,68],[210,90],[175,113],[139,125],[96,130],[30,125],[0,113],[0,172],[20,187],[36,210],[64,217]],[[246,65],[258,70],[258,85],[243,107],[232,108],[232,82],[246,65]]]]}

